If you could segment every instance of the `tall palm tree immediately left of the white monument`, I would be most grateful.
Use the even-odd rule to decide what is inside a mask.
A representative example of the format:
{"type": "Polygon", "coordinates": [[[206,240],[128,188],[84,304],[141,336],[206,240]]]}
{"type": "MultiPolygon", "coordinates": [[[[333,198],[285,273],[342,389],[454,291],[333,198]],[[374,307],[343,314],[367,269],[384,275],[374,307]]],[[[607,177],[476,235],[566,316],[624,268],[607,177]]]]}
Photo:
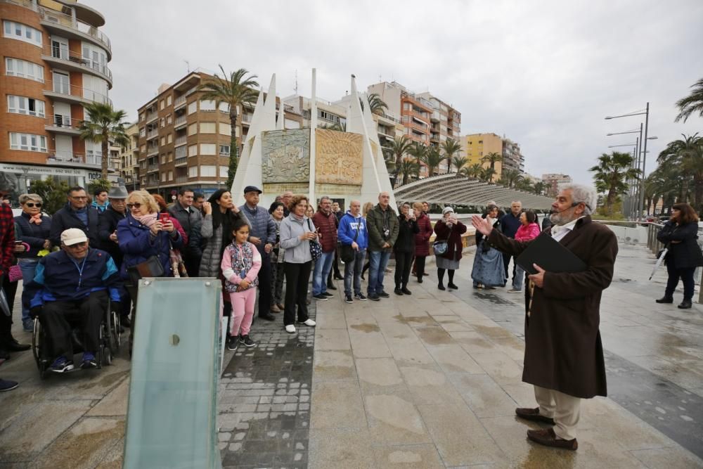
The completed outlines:
{"type": "Polygon", "coordinates": [[[240,106],[243,108],[245,104],[253,104],[259,98],[259,83],[255,80],[256,75],[249,75],[249,71],[240,68],[227,75],[219,65],[222,76],[217,73],[214,77],[205,80],[198,91],[204,91],[201,98],[209,99],[215,102],[215,107],[219,108],[220,103],[227,103],[229,106],[229,126],[231,131],[231,140],[229,146],[229,171],[227,173],[227,187],[232,186],[234,174],[237,172],[238,165],[238,143],[237,143],[237,111],[240,106]],[[247,75],[249,75],[247,77],[247,75]]]}

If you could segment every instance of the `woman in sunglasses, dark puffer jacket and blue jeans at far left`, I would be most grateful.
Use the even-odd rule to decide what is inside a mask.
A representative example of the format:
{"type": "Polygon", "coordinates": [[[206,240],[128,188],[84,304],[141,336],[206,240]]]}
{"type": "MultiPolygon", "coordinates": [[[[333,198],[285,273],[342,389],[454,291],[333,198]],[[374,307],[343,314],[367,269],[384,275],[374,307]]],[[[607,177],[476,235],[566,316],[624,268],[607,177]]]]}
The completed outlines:
{"type": "MultiPolygon", "coordinates": [[[[22,213],[15,217],[15,240],[25,244],[25,252],[15,254],[15,257],[22,271],[23,285],[32,281],[39,259],[51,249],[51,217],[41,214],[42,202],[39,194],[20,195],[22,213]]],[[[32,332],[34,321],[30,318],[29,295],[29,289],[22,288],[22,329],[32,332]]]]}

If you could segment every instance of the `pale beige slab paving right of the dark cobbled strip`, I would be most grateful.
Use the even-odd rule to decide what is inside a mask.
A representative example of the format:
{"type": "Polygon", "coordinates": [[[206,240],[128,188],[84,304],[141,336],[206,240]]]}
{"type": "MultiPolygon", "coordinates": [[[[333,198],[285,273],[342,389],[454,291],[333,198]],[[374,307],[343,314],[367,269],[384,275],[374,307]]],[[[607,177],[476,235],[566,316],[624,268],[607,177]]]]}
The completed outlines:
{"type": "Polygon", "coordinates": [[[611,388],[656,386],[646,382],[653,374],[675,391],[653,394],[661,404],[619,396],[631,413],[610,398],[584,400],[578,451],[531,444],[525,432],[537,425],[515,418],[516,406],[535,405],[521,381],[523,297],[504,288],[473,290],[467,255],[456,293],[437,290],[433,273],[421,285],[411,281],[410,297],[318,305],[309,467],[702,467],[644,420],[650,409],[664,420],[671,417],[666,409],[675,409],[662,430],[677,419],[701,428],[701,307],[655,307],[662,278],[654,288],[642,280],[652,262],[638,249],[621,246],[602,335],[611,388]],[[688,399],[672,408],[679,393],[688,399]]]}

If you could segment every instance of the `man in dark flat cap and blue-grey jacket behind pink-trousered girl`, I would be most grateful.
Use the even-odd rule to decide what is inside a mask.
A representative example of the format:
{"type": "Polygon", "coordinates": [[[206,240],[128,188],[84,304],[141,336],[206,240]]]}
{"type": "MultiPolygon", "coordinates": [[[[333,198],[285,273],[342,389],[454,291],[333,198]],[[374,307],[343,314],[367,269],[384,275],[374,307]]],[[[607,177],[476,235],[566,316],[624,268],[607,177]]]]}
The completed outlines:
{"type": "Polygon", "coordinates": [[[262,268],[259,269],[259,318],[266,321],[276,320],[271,314],[271,258],[269,252],[276,244],[276,224],[273,223],[269,211],[259,207],[259,194],[262,190],[257,186],[244,188],[246,203],[239,210],[249,219],[249,242],[257,247],[262,255],[262,268]]]}

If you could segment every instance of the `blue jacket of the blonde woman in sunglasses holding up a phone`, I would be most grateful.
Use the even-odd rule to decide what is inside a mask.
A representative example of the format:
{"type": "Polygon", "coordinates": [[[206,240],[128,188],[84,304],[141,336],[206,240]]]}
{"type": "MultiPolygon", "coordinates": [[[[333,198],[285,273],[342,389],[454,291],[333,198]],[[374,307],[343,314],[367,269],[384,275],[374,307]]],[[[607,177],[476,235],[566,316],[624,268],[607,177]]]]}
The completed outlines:
{"type": "Polygon", "coordinates": [[[169,238],[174,249],[183,247],[183,237],[178,230],[174,231],[174,236],[169,235],[167,231],[159,231],[156,238],[152,238],[151,232],[146,226],[136,221],[131,214],[127,214],[127,218],[120,220],[117,224],[117,242],[124,252],[120,276],[125,279],[129,278],[127,267],[144,262],[151,256],[159,257],[164,268],[164,276],[172,276],[169,238]]]}

